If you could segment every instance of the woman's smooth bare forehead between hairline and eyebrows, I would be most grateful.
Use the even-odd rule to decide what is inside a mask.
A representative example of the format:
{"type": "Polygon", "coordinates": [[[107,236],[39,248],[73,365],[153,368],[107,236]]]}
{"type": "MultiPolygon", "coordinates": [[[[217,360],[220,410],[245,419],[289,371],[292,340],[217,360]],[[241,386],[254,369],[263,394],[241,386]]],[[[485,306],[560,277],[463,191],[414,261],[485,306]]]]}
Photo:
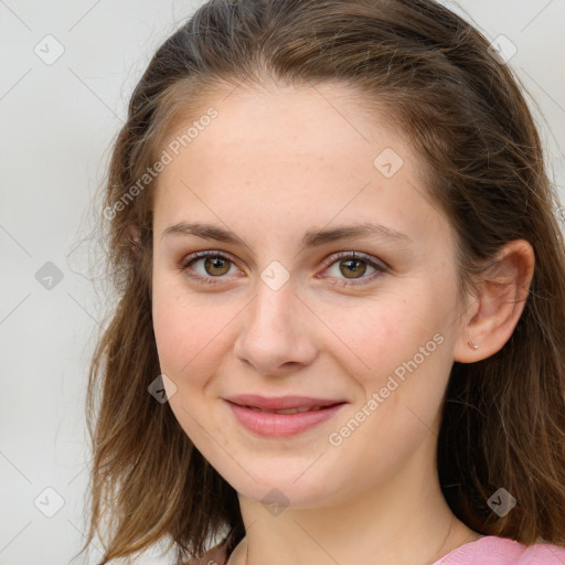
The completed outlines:
{"type": "Polygon", "coordinates": [[[424,227],[434,210],[423,163],[387,121],[338,85],[216,94],[167,139],[198,129],[159,174],[156,232],[191,214],[257,227],[275,214],[305,226],[393,214],[398,228],[424,227]],[[214,119],[199,124],[210,108],[214,119]]]}

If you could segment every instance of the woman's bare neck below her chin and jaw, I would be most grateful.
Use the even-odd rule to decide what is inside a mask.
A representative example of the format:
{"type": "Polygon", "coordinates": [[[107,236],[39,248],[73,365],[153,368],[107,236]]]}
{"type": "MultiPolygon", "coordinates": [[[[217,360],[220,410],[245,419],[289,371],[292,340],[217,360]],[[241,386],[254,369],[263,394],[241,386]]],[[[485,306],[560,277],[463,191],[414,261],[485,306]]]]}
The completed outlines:
{"type": "Polygon", "coordinates": [[[239,494],[239,507],[246,536],[228,565],[428,565],[480,537],[447,505],[435,460],[418,454],[354,498],[342,494],[334,503],[288,507],[275,515],[239,494]]]}

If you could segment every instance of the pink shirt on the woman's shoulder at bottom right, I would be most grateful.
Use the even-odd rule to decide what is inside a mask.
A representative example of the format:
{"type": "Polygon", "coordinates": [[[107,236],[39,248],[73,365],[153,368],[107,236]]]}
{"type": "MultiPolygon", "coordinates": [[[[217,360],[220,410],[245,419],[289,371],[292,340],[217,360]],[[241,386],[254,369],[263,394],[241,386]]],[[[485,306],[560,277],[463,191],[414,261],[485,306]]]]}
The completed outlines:
{"type": "Polygon", "coordinates": [[[521,543],[486,535],[469,542],[431,565],[565,565],[565,547],[545,543],[521,543]]]}

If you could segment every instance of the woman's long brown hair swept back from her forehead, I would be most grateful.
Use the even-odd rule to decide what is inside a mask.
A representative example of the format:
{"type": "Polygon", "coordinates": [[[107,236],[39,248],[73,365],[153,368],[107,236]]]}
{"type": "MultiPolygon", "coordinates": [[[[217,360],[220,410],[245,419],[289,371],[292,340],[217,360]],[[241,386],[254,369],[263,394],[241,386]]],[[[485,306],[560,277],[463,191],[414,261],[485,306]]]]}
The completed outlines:
{"type": "Polygon", "coordinates": [[[505,243],[532,244],[535,273],[511,339],[489,359],[452,366],[437,462],[448,504],[471,529],[565,544],[565,252],[521,83],[484,36],[433,0],[211,0],[157,51],[111,156],[102,220],[119,303],[89,372],[85,547],[103,522],[102,563],[163,539],[181,563],[211,537],[224,539],[230,553],[245,535],[235,490],[169,405],[148,393],[160,374],[151,321],[154,182],[139,179],[206,93],[268,82],[340,82],[370,109],[386,108],[457,234],[461,290],[473,288],[505,243]],[[138,242],[129,226],[140,231],[138,242]],[[487,503],[501,487],[518,501],[503,518],[487,503]]]}

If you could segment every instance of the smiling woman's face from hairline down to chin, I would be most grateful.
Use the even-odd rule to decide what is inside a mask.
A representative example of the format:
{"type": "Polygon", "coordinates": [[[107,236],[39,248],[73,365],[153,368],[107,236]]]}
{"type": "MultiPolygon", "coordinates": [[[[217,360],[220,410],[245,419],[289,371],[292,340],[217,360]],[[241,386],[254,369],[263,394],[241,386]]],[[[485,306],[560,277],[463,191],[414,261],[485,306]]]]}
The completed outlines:
{"type": "Polygon", "coordinates": [[[345,87],[227,93],[213,119],[194,115],[185,148],[175,136],[192,120],[170,137],[158,177],[153,321],[175,417],[259,501],[430,480],[462,303],[422,162],[345,87]],[[341,405],[274,415],[227,401],[247,394],[341,405]]]}

